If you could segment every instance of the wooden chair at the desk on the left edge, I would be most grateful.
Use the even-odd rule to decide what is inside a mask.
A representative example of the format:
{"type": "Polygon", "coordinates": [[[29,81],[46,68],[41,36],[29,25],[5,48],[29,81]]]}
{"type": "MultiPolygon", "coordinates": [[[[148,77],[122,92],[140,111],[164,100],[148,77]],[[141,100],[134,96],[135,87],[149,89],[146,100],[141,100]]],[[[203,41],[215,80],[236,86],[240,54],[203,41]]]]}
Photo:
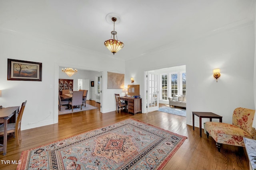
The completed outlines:
{"type": "MultiPolygon", "coordinates": [[[[7,134],[8,133],[14,133],[14,138],[16,141],[16,145],[20,145],[20,140],[21,140],[21,131],[20,131],[20,126],[21,126],[21,119],[23,115],[24,108],[26,106],[27,101],[23,102],[20,111],[18,113],[18,117],[16,119],[16,123],[8,123],[7,124],[7,134]]],[[[0,135],[4,135],[4,127],[0,127],[0,135]]]]}

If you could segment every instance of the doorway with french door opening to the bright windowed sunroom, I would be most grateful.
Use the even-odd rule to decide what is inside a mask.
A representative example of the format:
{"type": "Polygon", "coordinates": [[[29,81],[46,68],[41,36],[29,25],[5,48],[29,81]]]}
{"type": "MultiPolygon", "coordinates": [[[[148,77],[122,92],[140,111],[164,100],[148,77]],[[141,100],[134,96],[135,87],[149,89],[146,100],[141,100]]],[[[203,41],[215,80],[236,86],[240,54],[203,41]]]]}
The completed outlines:
{"type": "Polygon", "coordinates": [[[159,104],[169,106],[168,98],[173,94],[186,95],[186,65],[144,71],[144,74],[146,113],[158,110],[159,104]]]}

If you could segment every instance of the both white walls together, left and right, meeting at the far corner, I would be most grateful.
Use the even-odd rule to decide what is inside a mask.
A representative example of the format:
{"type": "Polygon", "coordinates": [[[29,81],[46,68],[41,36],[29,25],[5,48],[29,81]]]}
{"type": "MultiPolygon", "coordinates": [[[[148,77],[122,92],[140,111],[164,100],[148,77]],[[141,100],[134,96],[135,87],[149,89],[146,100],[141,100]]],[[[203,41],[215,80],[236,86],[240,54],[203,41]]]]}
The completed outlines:
{"type": "Polygon", "coordinates": [[[102,113],[114,111],[113,94],[122,94],[122,90],[107,89],[107,72],[124,73],[125,86],[134,77],[134,84],[141,85],[142,112],[145,113],[144,71],[186,65],[187,124],[192,125],[191,111],[211,111],[222,115],[223,122],[231,123],[236,107],[254,109],[253,35],[253,25],[229,29],[137,57],[127,61],[124,67],[124,61],[116,56],[102,56],[78,47],[0,29],[0,105],[20,106],[28,100],[22,130],[57,123],[59,67],[72,67],[102,71],[102,113]],[[42,63],[42,82],[8,81],[8,58],[42,63]],[[212,77],[214,68],[221,70],[218,82],[212,77]]]}

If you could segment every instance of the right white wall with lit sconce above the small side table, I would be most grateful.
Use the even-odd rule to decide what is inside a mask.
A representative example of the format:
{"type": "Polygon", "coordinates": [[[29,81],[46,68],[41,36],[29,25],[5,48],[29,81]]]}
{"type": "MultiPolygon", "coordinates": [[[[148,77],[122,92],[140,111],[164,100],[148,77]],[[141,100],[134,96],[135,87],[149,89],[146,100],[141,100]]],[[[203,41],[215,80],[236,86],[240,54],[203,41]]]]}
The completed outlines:
{"type": "MultiPolygon", "coordinates": [[[[140,94],[145,103],[145,70],[186,65],[187,124],[192,125],[192,111],[213,112],[223,116],[223,122],[232,123],[236,107],[255,109],[253,35],[252,24],[145,54],[126,62],[126,82],[134,77],[134,84],[142,84],[140,94]],[[218,82],[213,78],[214,68],[221,71],[218,82]]],[[[195,121],[198,127],[199,119],[195,121]]]]}

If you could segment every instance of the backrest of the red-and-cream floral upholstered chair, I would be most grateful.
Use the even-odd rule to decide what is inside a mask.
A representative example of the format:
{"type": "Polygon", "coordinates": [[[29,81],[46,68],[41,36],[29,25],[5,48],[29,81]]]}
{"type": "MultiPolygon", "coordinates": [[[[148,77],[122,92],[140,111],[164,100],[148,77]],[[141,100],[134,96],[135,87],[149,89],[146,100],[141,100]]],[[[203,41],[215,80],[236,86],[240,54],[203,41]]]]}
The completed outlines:
{"type": "Polygon", "coordinates": [[[238,107],[233,112],[232,123],[248,132],[256,140],[256,130],[252,127],[255,110],[238,107]]]}

